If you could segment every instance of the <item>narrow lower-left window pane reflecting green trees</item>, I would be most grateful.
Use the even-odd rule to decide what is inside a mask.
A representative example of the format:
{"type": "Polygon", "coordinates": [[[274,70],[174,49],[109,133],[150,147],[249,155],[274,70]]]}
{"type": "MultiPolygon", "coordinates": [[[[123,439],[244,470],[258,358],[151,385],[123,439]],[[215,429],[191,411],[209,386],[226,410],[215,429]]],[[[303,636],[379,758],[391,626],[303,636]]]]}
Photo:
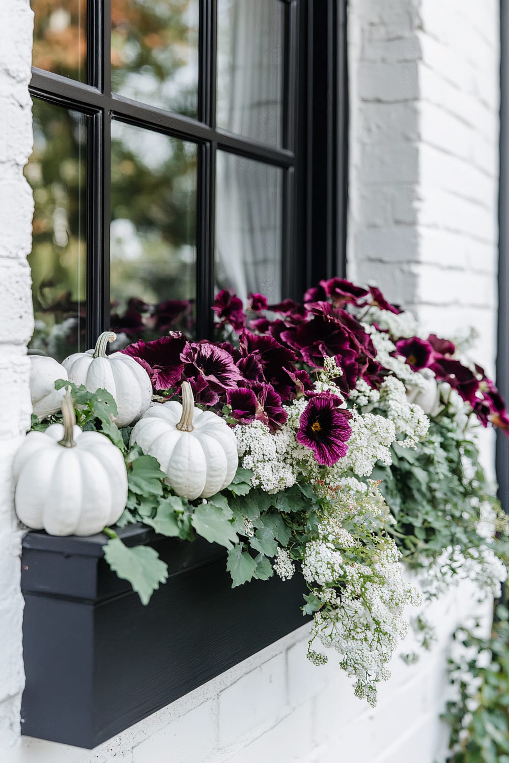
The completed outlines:
{"type": "Polygon", "coordinates": [[[34,190],[30,346],[57,360],[85,350],[86,117],[34,98],[34,151],[24,169],[34,190]]]}

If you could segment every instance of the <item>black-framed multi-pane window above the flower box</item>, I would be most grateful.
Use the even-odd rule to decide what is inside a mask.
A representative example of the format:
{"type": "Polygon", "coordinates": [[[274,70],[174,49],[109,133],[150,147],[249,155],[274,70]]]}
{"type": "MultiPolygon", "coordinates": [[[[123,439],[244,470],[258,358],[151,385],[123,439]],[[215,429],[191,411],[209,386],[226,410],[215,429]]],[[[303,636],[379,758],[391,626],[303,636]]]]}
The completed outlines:
{"type": "Polygon", "coordinates": [[[211,335],[343,270],[342,0],[32,0],[32,346],[211,335]]]}

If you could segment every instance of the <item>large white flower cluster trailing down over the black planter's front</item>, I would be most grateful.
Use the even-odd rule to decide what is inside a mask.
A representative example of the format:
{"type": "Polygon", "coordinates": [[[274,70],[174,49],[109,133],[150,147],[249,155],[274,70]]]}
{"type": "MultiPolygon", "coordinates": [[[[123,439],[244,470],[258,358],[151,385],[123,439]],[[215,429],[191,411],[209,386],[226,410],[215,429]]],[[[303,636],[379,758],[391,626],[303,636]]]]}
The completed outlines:
{"type": "Polygon", "coordinates": [[[399,552],[392,539],[373,541],[378,546],[379,561],[371,567],[345,563],[340,551],[330,549],[331,544],[314,542],[309,553],[306,549],[304,576],[313,575],[322,584],[330,586],[335,582],[341,586],[336,604],[314,615],[311,660],[323,662],[321,655],[311,649],[316,638],[324,647],[336,649],[341,655],[341,668],[356,679],[356,696],[366,697],[374,706],[376,684],[390,677],[386,665],[408,631],[404,606],[418,605],[421,599],[417,588],[402,578],[399,552]]]}

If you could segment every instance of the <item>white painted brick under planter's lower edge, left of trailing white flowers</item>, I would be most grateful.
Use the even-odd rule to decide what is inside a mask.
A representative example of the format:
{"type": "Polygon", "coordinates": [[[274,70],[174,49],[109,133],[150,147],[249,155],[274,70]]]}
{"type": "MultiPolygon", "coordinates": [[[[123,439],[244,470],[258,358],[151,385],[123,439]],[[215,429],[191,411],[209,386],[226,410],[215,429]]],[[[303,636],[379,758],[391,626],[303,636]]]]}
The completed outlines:
{"type": "Polygon", "coordinates": [[[219,695],[219,743],[226,747],[256,726],[270,727],[286,703],[285,655],[276,655],[219,695]]]}

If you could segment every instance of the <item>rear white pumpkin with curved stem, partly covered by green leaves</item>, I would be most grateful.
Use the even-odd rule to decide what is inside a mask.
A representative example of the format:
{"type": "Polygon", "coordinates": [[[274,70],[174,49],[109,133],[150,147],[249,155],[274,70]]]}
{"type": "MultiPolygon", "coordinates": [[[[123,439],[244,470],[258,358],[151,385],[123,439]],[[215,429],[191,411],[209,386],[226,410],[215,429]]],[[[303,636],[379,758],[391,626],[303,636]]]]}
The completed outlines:
{"type": "Polygon", "coordinates": [[[86,353],[73,353],[62,361],[69,381],[82,384],[89,390],[107,390],[118,407],[114,418],[118,427],[128,427],[142,416],[152,401],[152,383],[149,375],[134,358],[124,353],[106,356],[108,342],[117,335],[105,331],[99,336],[95,349],[86,353]]]}

